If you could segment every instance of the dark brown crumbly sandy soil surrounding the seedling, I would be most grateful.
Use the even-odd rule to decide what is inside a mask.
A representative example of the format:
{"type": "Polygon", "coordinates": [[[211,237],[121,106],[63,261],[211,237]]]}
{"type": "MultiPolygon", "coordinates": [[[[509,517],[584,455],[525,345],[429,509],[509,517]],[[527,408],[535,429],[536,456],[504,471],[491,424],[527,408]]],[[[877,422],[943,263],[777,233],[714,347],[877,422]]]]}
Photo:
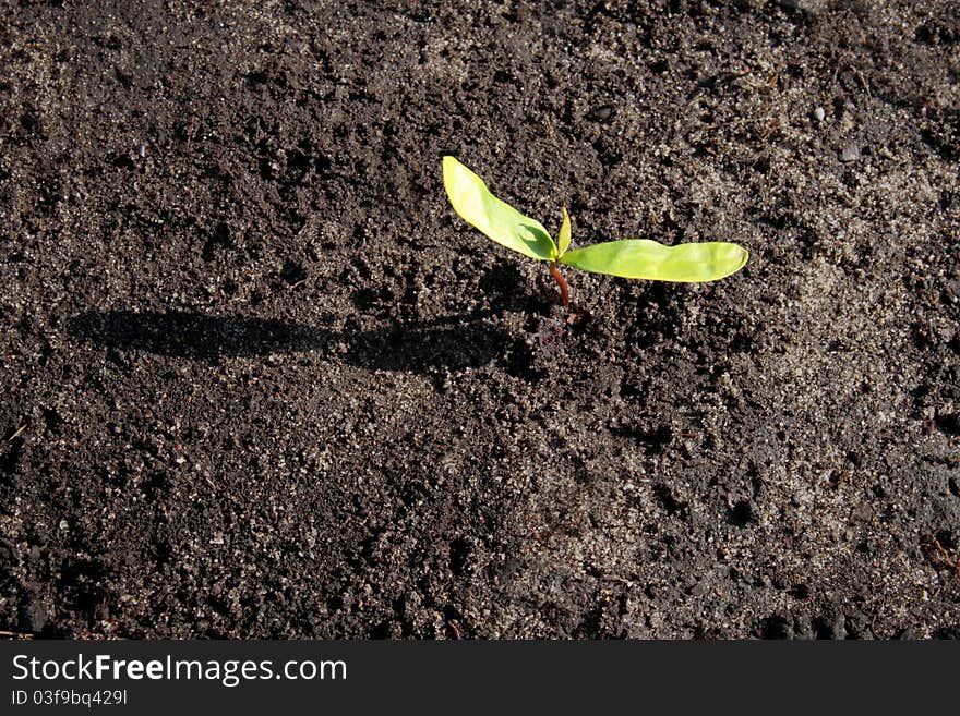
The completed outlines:
{"type": "Polygon", "coordinates": [[[243,4],[0,2],[0,630],[960,632],[958,2],[243,4]]]}

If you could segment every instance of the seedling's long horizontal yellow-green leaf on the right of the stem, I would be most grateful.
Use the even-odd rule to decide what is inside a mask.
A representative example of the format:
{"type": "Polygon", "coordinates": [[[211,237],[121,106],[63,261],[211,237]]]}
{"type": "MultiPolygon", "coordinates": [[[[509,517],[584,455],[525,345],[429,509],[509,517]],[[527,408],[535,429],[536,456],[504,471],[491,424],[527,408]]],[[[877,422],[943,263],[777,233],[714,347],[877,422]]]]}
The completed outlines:
{"type": "Polygon", "coordinates": [[[624,239],[577,248],[560,262],[584,271],[651,281],[715,281],[746,265],[747,251],[723,241],[664,246],[624,239]]]}

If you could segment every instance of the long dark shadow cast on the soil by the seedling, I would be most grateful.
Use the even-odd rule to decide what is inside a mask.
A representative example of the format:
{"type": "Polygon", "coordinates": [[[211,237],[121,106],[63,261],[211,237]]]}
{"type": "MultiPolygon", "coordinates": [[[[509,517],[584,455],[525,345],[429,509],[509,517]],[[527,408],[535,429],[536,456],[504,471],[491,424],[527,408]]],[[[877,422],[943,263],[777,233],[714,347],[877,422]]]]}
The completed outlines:
{"type": "Polygon", "coordinates": [[[367,368],[430,372],[478,367],[502,354],[508,336],[480,318],[454,316],[351,332],[185,311],[92,311],[73,317],[69,331],[77,340],[120,351],[194,361],[329,351],[367,368]]]}

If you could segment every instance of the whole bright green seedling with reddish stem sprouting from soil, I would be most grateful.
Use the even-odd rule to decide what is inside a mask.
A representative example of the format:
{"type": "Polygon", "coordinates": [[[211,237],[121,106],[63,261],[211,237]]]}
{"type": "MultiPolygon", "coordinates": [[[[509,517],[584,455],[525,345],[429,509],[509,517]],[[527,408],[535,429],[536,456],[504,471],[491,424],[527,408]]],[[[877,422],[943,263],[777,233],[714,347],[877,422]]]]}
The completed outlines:
{"type": "Polygon", "coordinates": [[[454,157],[443,158],[443,184],[454,210],[488,239],[524,256],[550,262],[550,275],[560,286],[565,306],[569,305],[569,287],[560,264],[592,274],[687,283],[716,281],[746,265],[747,251],[725,241],[665,246],[649,239],[621,239],[569,251],[566,208],[553,241],[539,221],[496,198],[482,179],[454,157]]]}

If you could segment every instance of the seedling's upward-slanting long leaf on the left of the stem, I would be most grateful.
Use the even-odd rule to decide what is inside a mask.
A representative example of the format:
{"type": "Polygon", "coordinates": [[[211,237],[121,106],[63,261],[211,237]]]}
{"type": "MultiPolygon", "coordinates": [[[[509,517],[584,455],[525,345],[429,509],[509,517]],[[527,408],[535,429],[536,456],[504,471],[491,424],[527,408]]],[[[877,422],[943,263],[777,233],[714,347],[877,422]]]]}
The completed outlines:
{"type": "Polygon", "coordinates": [[[556,258],[556,245],[539,221],[496,198],[482,179],[454,157],[443,158],[443,185],[454,210],[489,239],[530,258],[556,258]]]}

